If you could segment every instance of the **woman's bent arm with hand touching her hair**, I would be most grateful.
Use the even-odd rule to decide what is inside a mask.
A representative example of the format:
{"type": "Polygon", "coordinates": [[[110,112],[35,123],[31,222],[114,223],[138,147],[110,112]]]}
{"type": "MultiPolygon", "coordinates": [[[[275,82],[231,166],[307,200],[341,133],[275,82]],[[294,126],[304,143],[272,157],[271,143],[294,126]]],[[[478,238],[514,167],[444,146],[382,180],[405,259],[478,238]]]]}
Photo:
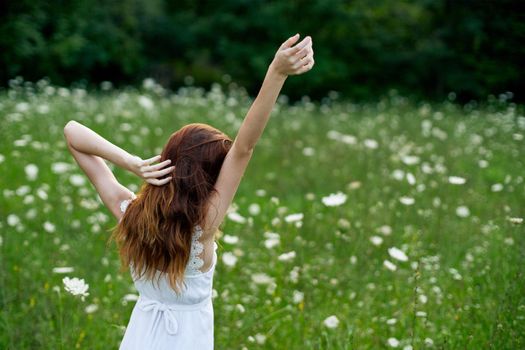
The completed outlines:
{"type": "Polygon", "coordinates": [[[76,121],[72,120],[66,124],[64,136],[76,162],[95,186],[102,202],[117,219],[122,215],[120,202],[129,199],[132,193],[117,181],[104,159],[154,185],[163,185],[171,179],[157,179],[173,171],[173,167],[163,168],[168,165],[169,160],[152,165],[160,156],[142,160],[76,121]]]}

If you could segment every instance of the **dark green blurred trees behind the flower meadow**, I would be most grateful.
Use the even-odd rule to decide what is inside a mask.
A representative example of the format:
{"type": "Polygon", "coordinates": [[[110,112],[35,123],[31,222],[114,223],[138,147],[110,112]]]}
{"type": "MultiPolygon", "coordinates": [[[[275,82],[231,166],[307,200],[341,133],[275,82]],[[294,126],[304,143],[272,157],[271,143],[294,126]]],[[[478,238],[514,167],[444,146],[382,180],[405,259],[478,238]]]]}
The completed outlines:
{"type": "Polygon", "coordinates": [[[460,100],[512,91],[524,100],[520,1],[0,1],[0,81],[175,88],[230,79],[255,93],[288,36],[311,35],[312,72],[291,97],[331,91],[371,99],[390,89],[460,100]]]}

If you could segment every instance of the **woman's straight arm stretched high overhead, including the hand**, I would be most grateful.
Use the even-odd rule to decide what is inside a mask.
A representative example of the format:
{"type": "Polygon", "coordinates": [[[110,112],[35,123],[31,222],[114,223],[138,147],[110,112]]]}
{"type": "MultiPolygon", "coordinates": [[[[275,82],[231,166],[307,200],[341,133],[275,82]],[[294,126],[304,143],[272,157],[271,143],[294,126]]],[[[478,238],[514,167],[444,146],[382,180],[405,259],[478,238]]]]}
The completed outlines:
{"type": "Polygon", "coordinates": [[[307,72],[314,65],[312,39],[307,36],[294,46],[298,40],[299,34],[296,34],[277,50],[259,94],[248,110],[235,141],[224,159],[215,183],[216,193],[210,198],[210,207],[204,224],[204,231],[209,236],[213,235],[226,215],[286,78],[289,75],[307,72]]]}

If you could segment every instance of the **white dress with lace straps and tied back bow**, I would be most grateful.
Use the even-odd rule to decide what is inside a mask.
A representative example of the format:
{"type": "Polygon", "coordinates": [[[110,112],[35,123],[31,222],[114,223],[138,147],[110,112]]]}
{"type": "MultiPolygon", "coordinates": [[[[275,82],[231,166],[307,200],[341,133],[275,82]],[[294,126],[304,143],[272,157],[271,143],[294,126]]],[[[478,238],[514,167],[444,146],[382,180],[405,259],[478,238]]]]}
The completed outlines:
{"type": "MultiPolygon", "coordinates": [[[[124,212],[130,200],[123,201],[124,212]]],[[[196,226],[190,252],[190,260],[184,275],[185,287],[180,295],[170,287],[166,273],[146,280],[137,279],[132,267],[131,276],[139,292],[139,298],[120,344],[120,350],[172,350],[213,349],[213,272],[217,263],[217,244],[213,242],[213,262],[206,272],[199,268],[203,261],[198,255],[203,251],[199,242],[202,235],[196,226]]]]}

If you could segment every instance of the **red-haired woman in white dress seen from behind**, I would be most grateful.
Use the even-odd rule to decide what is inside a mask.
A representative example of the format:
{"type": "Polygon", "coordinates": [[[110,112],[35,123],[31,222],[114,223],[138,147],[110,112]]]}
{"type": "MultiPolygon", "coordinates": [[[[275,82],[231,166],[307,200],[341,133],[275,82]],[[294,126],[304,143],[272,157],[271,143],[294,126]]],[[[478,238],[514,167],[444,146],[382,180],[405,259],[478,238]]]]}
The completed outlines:
{"type": "Polygon", "coordinates": [[[112,238],[140,294],[120,349],[213,348],[214,234],[286,78],[314,65],[311,38],[298,40],[277,50],[233,142],[209,125],[190,124],[160,156],[142,160],[75,121],[65,126],[73,157],[119,220],[112,238]],[[103,159],[146,181],[137,196],[103,159]]]}

